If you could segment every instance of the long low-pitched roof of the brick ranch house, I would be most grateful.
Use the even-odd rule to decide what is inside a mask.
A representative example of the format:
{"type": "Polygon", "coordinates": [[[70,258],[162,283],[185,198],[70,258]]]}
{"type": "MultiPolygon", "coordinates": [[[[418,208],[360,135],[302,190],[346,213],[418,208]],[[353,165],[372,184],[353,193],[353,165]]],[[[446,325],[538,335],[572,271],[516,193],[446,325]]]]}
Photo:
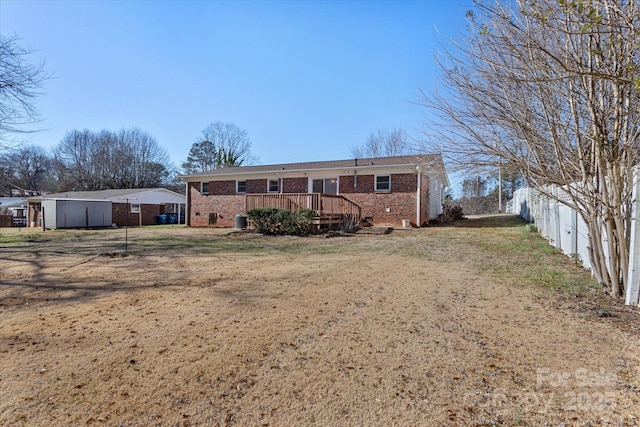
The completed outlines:
{"type": "Polygon", "coordinates": [[[238,175],[257,175],[280,172],[310,172],[340,169],[374,169],[389,167],[422,166],[427,173],[434,173],[443,177],[448,185],[448,178],[444,169],[442,157],[439,154],[420,154],[411,156],[375,157],[366,159],[329,160],[320,162],[282,163],[276,165],[237,166],[213,169],[180,177],[183,181],[197,181],[202,178],[221,178],[238,175]]]}

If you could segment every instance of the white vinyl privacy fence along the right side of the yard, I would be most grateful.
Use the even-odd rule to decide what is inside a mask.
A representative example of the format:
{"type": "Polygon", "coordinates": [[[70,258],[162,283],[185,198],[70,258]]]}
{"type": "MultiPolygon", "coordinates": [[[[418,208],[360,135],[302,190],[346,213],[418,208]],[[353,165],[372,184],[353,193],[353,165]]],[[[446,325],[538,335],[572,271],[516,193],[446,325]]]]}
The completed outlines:
{"type": "MultiPolygon", "coordinates": [[[[626,304],[638,304],[640,289],[640,223],[636,221],[636,213],[640,213],[640,203],[637,202],[634,186],[633,212],[631,220],[631,244],[629,254],[629,283],[626,289],[626,304]]],[[[545,237],[549,244],[584,268],[591,270],[589,259],[589,233],[578,211],[562,202],[568,200],[567,194],[558,187],[547,189],[555,197],[547,197],[533,188],[523,188],[516,191],[507,203],[507,213],[518,214],[526,221],[535,224],[538,232],[545,237]]],[[[606,236],[603,237],[606,239],[606,236]]],[[[604,250],[607,251],[606,241],[604,250]]],[[[605,252],[605,256],[609,256],[605,252]]]]}

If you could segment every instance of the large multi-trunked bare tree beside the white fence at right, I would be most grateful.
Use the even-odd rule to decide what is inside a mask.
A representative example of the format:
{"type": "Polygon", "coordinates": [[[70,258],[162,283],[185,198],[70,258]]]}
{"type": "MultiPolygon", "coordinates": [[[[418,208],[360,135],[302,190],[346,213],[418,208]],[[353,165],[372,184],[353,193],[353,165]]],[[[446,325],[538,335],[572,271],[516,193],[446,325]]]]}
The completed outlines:
{"type": "Polygon", "coordinates": [[[443,47],[446,92],[423,94],[439,121],[431,148],[452,167],[507,165],[549,196],[546,186],[561,187],[589,229],[593,273],[621,295],[640,143],[640,8],[504,3],[476,1],[468,37],[443,47]]]}

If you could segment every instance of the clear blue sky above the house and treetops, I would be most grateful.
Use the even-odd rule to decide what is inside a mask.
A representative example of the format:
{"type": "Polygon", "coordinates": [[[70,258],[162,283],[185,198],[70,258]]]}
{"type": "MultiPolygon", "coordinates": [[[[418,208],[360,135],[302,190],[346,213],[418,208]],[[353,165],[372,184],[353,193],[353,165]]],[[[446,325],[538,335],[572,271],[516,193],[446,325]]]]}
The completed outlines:
{"type": "Polygon", "coordinates": [[[249,133],[259,163],[350,158],[377,129],[421,133],[419,89],[471,0],[1,0],[0,31],[55,78],[38,99],[54,147],[73,129],[138,127],[187,157],[216,121],[249,133]],[[441,34],[439,34],[441,33],[441,34]]]}

